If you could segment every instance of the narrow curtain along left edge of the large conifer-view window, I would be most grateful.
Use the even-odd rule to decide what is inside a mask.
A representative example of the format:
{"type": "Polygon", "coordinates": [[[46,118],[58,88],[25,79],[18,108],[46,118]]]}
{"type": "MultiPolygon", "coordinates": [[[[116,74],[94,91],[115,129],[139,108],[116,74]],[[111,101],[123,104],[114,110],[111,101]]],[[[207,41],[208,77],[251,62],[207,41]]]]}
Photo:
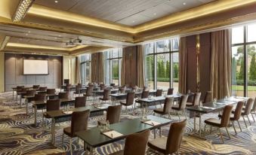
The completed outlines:
{"type": "Polygon", "coordinates": [[[138,87],[144,87],[145,85],[145,73],[144,73],[144,51],[143,45],[137,46],[137,78],[136,84],[138,87]]]}

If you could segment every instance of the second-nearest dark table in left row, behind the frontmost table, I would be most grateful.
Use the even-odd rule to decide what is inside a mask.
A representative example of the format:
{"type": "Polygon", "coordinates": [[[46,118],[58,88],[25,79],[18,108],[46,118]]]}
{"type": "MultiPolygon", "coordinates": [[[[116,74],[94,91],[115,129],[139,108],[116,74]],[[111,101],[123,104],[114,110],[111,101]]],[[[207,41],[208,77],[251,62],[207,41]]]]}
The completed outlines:
{"type": "Polygon", "coordinates": [[[51,144],[53,144],[53,145],[55,144],[55,123],[69,121],[72,116],[72,112],[86,111],[89,109],[90,117],[94,117],[94,116],[103,115],[103,111],[106,111],[107,108],[108,108],[107,106],[96,107],[93,105],[86,105],[85,107],[72,108],[68,111],[59,110],[59,111],[45,112],[45,115],[51,119],[51,144]]]}

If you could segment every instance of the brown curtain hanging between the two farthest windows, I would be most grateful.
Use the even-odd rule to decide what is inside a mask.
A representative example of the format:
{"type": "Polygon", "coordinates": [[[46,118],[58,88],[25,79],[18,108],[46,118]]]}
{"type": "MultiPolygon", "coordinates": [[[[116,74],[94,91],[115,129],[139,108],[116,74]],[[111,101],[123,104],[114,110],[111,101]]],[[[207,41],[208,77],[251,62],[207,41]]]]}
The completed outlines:
{"type": "Polygon", "coordinates": [[[103,53],[91,54],[91,82],[103,82],[103,53]]]}

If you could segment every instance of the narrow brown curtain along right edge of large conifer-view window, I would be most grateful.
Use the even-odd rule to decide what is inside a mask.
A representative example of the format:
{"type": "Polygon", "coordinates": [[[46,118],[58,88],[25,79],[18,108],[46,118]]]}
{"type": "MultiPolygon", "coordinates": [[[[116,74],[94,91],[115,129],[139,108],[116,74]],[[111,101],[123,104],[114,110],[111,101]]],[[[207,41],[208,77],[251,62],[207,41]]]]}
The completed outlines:
{"type": "Polygon", "coordinates": [[[179,47],[179,92],[187,93],[187,38],[180,38],[179,47]]]}

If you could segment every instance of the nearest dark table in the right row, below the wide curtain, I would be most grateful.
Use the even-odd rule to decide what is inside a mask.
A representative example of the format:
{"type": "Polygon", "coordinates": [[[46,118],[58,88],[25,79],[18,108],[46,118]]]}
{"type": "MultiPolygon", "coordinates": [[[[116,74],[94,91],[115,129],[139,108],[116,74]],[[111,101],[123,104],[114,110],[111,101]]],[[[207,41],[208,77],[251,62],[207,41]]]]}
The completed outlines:
{"type": "Polygon", "coordinates": [[[193,112],[194,115],[194,129],[193,133],[190,135],[196,136],[198,138],[205,139],[202,136],[202,114],[208,114],[214,111],[221,111],[226,105],[236,105],[239,101],[247,101],[248,97],[235,97],[231,96],[227,99],[219,99],[217,102],[208,102],[200,105],[195,105],[187,107],[187,111],[193,112]],[[199,133],[196,131],[196,117],[199,117],[199,133]]]}

